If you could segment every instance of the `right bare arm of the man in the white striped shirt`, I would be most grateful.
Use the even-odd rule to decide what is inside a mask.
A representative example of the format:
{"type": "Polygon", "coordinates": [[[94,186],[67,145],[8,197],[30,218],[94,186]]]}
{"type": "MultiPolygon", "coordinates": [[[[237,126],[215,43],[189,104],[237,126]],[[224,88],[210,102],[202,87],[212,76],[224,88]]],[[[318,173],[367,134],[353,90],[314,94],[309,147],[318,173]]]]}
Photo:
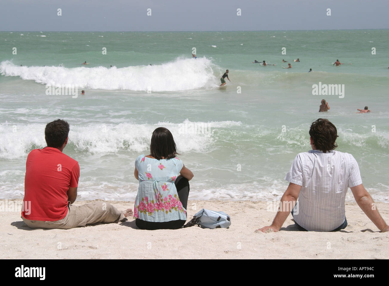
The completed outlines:
{"type": "Polygon", "coordinates": [[[375,203],[369,193],[364,188],[363,184],[350,188],[354,198],[366,214],[366,216],[378,227],[382,232],[389,231],[389,226],[385,223],[384,219],[381,217],[380,213],[375,206],[375,203]]]}

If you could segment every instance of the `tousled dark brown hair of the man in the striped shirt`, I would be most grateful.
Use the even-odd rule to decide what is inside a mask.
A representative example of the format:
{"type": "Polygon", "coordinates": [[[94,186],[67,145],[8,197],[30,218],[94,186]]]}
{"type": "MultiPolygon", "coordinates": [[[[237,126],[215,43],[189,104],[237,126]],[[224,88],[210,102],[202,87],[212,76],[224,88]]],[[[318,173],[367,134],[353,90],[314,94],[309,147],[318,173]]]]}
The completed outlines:
{"type": "Polygon", "coordinates": [[[315,148],[317,150],[327,153],[338,147],[335,143],[338,137],[338,131],[335,125],[328,121],[328,119],[319,118],[312,122],[309,129],[309,135],[312,137],[315,148]]]}

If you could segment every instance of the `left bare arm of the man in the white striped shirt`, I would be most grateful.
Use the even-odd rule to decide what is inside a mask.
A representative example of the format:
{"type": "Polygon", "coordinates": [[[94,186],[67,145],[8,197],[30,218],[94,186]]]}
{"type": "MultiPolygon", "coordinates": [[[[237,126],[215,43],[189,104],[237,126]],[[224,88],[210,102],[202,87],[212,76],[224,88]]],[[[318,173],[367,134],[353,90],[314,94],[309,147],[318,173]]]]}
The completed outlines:
{"type": "Polygon", "coordinates": [[[273,231],[278,232],[282,225],[284,224],[286,218],[289,216],[296,201],[298,195],[300,194],[301,186],[293,183],[289,183],[288,188],[286,189],[284,195],[281,198],[280,208],[275,215],[272,225],[265,226],[259,229],[261,232],[265,232],[269,228],[273,231]]]}

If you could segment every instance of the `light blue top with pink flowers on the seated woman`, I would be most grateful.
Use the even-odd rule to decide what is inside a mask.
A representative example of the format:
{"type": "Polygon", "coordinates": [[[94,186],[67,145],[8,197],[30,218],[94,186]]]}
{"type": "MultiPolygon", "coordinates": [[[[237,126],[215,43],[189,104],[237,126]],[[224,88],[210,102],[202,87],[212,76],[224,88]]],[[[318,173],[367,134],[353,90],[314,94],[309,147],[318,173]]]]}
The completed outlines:
{"type": "Polygon", "coordinates": [[[138,170],[139,188],[134,205],[134,218],[144,221],[165,222],[186,220],[186,209],[182,206],[174,181],[179,175],[182,161],[152,159],[144,154],[135,160],[138,170]]]}

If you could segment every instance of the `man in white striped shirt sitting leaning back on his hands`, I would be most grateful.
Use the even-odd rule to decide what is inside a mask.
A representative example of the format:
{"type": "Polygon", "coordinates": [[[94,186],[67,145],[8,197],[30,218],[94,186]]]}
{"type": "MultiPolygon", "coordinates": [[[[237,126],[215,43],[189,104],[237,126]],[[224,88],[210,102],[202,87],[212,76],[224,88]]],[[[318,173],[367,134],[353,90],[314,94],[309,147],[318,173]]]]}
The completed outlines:
{"type": "Polygon", "coordinates": [[[347,226],[344,202],[350,188],[368,218],[380,231],[387,232],[389,226],[362,184],[357,161],[351,154],[334,150],[338,137],[336,127],[327,119],[319,118],[312,123],[309,135],[312,150],[294,159],[285,177],[289,186],[281,198],[279,211],[272,225],[260,230],[278,232],[289,212],[298,230],[341,230],[347,226]]]}

